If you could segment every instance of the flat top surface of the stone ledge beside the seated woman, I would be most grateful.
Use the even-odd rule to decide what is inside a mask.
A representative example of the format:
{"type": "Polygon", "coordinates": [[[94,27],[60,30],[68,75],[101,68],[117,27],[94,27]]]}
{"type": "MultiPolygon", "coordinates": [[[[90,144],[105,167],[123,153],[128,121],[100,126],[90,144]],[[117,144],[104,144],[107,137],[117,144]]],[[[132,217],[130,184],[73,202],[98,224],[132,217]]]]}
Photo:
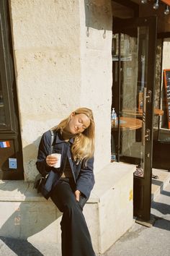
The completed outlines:
{"type": "MultiPolygon", "coordinates": [[[[104,171],[95,174],[95,185],[91,192],[88,203],[99,202],[109,190],[116,189],[123,176],[128,172],[135,171],[135,166],[127,163],[109,163],[104,167],[104,171]]],[[[0,181],[0,201],[15,202],[46,202],[42,195],[37,194],[37,190],[33,189],[32,182],[24,181],[0,181]]],[[[50,199],[49,199],[50,200],[50,199]]]]}

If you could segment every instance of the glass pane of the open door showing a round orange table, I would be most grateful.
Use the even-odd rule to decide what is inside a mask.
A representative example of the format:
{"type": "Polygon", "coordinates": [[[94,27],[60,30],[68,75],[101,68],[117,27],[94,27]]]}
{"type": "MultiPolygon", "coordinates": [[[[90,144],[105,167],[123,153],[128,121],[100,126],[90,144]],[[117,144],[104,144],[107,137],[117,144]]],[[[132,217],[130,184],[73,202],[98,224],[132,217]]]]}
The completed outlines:
{"type": "Polygon", "coordinates": [[[112,61],[112,108],[119,116],[119,126],[112,126],[112,155],[135,164],[135,175],[144,176],[148,27],[113,34],[112,61]]]}

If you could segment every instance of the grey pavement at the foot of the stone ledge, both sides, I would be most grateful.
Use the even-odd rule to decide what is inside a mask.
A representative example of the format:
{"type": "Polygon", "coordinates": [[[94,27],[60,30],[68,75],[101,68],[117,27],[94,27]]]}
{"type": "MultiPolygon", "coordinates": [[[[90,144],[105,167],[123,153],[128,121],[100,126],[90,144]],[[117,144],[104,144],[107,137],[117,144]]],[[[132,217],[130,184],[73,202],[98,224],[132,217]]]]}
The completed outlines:
{"type": "MultiPolygon", "coordinates": [[[[170,255],[170,183],[166,183],[166,187],[153,197],[151,219],[153,226],[150,227],[134,223],[131,229],[101,256],[170,255]]],[[[20,239],[0,237],[0,256],[61,256],[56,255],[56,251],[58,250],[55,244],[34,244],[20,239]]]]}

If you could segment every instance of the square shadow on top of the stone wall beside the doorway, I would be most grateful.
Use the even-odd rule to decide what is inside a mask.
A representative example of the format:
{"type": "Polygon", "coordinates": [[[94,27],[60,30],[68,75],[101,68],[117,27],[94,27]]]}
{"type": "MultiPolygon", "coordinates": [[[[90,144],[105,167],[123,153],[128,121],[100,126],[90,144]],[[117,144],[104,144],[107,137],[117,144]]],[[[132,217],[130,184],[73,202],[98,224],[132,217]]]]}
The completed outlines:
{"type": "Polygon", "coordinates": [[[112,30],[112,8],[110,1],[106,0],[85,0],[85,15],[87,33],[89,27],[97,30],[112,30]]]}

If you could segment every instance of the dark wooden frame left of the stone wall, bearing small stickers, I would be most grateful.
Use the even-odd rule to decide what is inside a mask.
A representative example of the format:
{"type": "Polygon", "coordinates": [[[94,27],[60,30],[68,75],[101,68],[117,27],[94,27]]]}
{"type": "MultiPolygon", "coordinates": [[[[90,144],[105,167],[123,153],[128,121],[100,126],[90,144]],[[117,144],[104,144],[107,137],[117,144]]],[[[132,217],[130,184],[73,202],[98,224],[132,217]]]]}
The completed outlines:
{"type": "Polygon", "coordinates": [[[8,0],[0,1],[0,14],[0,82],[6,119],[0,127],[0,140],[10,141],[10,148],[0,148],[3,161],[4,155],[8,155],[1,163],[0,179],[24,179],[8,0]],[[9,158],[17,159],[17,168],[9,168],[9,158]]]}

